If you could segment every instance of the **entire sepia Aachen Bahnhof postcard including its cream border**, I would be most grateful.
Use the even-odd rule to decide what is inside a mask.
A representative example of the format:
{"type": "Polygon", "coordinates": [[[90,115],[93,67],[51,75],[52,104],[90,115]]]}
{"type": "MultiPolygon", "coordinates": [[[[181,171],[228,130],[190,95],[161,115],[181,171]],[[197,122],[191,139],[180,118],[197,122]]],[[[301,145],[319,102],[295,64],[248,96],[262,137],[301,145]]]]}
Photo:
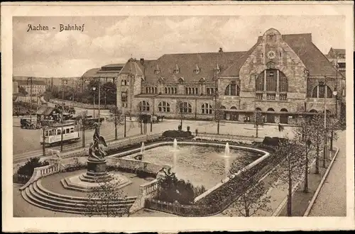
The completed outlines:
{"type": "Polygon", "coordinates": [[[1,12],[6,216],[354,228],[354,4],[343,4],[319,15],[67,6],[13,14],[6,27],[1,12]]]}

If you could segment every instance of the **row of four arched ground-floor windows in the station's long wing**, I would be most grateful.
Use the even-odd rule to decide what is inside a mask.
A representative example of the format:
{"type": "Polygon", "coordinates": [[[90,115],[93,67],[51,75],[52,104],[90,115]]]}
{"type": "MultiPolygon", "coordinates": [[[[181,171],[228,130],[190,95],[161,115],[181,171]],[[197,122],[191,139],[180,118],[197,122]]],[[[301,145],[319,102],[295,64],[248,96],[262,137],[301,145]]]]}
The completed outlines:
{"type": "MultiPolygon", "coordinates": [[[[141,101],[139,104],[140,111],[150,111],[150,105],[148,101],[141,101]]],[[[202,104],[201,111],[202,113],[212,114],[212,105],[211,104],[202,104]]],[[[170,112],[170,104],[166,101],[161,101],[158,104],[158,111],[159,112],[170,112]]],[[[181,113],[192,113],[192,106],[188,102],[182,102],[180,104],[180,112],[181,113]]]]}

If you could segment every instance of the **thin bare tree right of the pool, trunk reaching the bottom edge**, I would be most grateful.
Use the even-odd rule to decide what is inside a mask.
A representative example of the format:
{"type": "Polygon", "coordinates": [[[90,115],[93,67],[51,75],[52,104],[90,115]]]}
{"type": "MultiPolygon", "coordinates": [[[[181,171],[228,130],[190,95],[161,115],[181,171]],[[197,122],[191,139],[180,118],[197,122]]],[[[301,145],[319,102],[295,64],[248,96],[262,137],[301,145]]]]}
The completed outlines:
{"type": "Polygon", "coordinates": [[[292,216],[293,186],[302,181],[305,158],[302,157],[302,147],[291,140],[280,141],[273,157],[273,163],[277,166],[272,175],[277,179],[275,184],[288,184],[287,213],[292,216]]]}

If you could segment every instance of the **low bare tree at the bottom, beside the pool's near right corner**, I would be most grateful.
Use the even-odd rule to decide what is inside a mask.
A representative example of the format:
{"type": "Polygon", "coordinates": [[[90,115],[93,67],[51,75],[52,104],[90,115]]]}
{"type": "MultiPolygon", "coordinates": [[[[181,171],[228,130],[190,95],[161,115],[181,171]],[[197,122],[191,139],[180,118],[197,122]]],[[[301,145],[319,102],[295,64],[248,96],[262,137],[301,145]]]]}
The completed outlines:
{"type": "MultiPolygon", "coordinates": [[[[256,174],[258,169],[245,169],[246,163],[241,163],[234,168],[233,171],[239,171],[239,191],[240,196],[231,208],[227,209],[225,213],[229,216],[234,216],[234,213],[239,213],[241,216],[250,217],[256,212],[271,211],[268,206],[271,202],[271,196],[266,196],[267,189],[264,186],[264,182],[257,179],[256,174]]],[[[232,165],[235,167],[235,165],[232,165]]]]}

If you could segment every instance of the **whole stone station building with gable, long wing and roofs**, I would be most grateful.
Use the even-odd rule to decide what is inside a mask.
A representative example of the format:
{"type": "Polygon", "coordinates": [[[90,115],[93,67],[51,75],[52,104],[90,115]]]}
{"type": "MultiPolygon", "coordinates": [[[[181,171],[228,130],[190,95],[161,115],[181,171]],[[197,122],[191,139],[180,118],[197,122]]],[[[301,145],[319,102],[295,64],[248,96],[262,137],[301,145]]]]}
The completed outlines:
{"type": "Polygon", "coordinates": [[[312,43],[312,35],[266,31],[244,52],[170,54],[130,59],[117,80],[117,106],[131,113],[212,119],[217,102],[226,120],[292,123],[305,113],[344,114],[345,79],[312,43]],[[334,95],[337,91],[337,95],[334,95]]]}

